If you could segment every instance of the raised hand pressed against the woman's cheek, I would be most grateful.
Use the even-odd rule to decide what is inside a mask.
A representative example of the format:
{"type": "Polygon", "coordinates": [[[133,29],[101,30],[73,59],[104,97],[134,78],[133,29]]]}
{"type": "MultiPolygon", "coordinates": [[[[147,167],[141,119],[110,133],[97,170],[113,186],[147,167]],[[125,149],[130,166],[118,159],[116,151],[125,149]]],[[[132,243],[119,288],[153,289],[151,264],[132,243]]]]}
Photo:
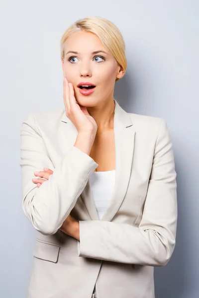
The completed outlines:
{"type": "Polygon", "coordinates": [[[89,114],[87,108],[78,104],[75,98],[74,87],[64,76],[63,98],[66,108],[66,116],[73,122],[78,133],[86,132],[96,134],[98,125],[95,119],[89,114]]]}

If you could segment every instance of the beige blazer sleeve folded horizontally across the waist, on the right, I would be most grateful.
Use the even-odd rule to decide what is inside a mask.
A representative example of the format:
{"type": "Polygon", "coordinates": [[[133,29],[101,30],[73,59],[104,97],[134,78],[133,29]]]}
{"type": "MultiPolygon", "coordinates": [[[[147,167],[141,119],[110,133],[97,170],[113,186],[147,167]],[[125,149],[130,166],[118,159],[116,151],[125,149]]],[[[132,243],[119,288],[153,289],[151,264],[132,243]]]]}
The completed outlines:
{"type": "Polygon", "coordinates": [[[167,124],[161,119],[142,220],[139,227],[105,221],[80,221],[80,257],[164,266],[176,238],[177,184],[167,124]]]}

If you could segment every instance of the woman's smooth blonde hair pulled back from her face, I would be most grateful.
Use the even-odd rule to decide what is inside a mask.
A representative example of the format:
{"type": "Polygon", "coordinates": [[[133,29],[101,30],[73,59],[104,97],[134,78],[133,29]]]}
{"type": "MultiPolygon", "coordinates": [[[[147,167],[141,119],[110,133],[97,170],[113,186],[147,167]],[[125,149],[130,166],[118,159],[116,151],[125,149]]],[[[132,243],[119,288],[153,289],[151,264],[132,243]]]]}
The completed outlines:
{"type": "MultiPolygon", "coordinates": [[[[119,29],[109,20],[99,16],[85,17],[77,20],[63,34],[61,38],[61,59],[64,59],[64,45],[67,38],[80,31],[87,31],[96,34],[101,43],[112,54],[117,64],[122,67],[124,72],[127,69],[127,61],[125,56],[125,43],[119,29]]],[[[119,78],[115,79],[115,82],[119,78]]]]}

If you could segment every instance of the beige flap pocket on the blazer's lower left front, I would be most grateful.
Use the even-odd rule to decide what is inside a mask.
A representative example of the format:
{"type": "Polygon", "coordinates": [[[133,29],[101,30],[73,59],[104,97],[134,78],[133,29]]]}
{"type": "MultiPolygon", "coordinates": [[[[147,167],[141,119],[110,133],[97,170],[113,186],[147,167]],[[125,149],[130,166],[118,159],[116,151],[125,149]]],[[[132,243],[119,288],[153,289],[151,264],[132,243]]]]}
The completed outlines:
{"type": "Polygon", "coordinates": [[[33,255],[36,258],[57,263],[60,246],[36,239],[33,255]]]}

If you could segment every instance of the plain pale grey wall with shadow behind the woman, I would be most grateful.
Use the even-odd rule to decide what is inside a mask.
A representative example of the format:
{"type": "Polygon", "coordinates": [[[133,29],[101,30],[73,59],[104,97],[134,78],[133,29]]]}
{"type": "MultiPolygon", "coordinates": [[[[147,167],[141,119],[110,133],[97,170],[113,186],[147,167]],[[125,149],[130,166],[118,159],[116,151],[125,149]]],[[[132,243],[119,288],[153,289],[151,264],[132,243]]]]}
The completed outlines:
{"type": "Polygon", "coordinates": [[[78,18],[121,30],[128,70],[115,98],[167,121],[178,182],[178,234],[156,298],[199,297],[199,1],[0,0],[0,297],[24,298],[36,231],[21,202],[20,129],[27,113],[64,108],[60,39],[78,18]]]}

